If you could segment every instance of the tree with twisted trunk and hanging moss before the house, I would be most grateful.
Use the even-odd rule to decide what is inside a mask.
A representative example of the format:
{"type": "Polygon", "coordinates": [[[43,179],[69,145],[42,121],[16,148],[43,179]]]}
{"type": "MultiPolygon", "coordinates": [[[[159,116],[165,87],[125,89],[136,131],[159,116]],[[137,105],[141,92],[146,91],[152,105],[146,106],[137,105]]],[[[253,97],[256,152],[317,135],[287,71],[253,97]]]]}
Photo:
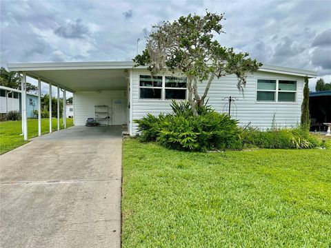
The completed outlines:
{"type": "Polygon", "coordinates": [[[223,14],[206,12],[204,16],[189,14],[170,23],[153,25],[154,32],[146,37],[146,48],[134,57],[135,66],[147,65],[151,74],[181,72],[188,79],[188,101],[194,116],[203,106],[212,80],[227,74],[236,74],[237,87],[243,90],[246,74],[262,65],[248,58],[247,52],[235,53],[233,48],[222,47],[214,33],[223,33],[223,14]],[[198,83],[207,81],[202,96],[198,83]]]}

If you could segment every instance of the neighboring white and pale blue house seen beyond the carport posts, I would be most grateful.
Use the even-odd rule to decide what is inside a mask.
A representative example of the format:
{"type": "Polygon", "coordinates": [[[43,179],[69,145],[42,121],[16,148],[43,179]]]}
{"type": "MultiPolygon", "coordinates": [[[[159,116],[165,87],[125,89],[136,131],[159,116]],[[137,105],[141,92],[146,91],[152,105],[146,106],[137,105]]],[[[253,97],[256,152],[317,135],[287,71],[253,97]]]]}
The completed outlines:
{"type": "MultiPolygon", "coordinates": [[[[26,113],[28,118],[34,118],[33,111],[37,110],[38,96],[26,92],[26,113]]],[[[5,115],[12,110],[22,112],[21,90],[0,85],[0,114],[5,115]]]]}

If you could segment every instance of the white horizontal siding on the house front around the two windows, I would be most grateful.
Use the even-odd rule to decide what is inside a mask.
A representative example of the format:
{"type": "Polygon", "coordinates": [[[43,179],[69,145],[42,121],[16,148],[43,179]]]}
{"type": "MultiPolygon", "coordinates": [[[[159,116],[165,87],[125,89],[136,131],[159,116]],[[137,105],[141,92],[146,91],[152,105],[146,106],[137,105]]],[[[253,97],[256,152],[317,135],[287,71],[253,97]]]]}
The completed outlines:
{"type": "MultiPolygon", "coordinates": [[[[147,70],[133,70],[132,73],[132,119],[139,119],[147,113],[157,115],[161,112],[172,112],[168,100],[140,100],[139,74],[148,74],[147,70]]],[[[205,84],[205,83],[204,83],[205,84]]],[[[203,93],[204,86],[200,85],[199,92],[203,93]]],[[[208,92],[208,104],[217,112],[228,112],[228,103],[222,100],[225,96],[237,97],[232,104],[231,114],[239,120],[239,125],[259,127],[262,130],[270,128],[272,119],[279,127],[295,127],[300,122],[301,102],[303,92],[303,78],[286,74],[269,72],[255,72],[248,76],[243,92],[237,89],[237,77],[234,75],[215,79],[208,92]],[[297,81],[297,103],[259,103],[257,97],[257,79],[290,79],[297,81]]],[[[133,123],[132,134],[137,133],[137,125],[133,123]]]]}

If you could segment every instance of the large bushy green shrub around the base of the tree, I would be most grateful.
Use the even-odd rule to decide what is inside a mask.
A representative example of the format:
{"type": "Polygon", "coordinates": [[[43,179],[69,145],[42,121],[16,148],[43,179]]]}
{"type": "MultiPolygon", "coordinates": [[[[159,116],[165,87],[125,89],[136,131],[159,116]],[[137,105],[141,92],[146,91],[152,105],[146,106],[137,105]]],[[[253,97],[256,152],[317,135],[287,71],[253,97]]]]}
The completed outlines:
{"type": "Polygon", "coordinates": [[[158,141],[171,149],[206,151],[212,149],[239,149],[240,130],[237,121],[219,114],[208,106],[200,107],[199,116],[193,116],[190,105],[183,101],[171,104],[173,114],[148,114],[140,120],[141,141],[158,141]]]}

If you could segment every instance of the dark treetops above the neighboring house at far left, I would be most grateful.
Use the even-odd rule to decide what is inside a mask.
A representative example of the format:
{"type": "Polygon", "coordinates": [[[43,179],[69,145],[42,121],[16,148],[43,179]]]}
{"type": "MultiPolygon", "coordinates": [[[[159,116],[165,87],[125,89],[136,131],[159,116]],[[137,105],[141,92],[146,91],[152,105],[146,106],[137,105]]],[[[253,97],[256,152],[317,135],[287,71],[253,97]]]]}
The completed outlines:
{"type": "MultiPolygon", "coordinates": [[[[6,68],[1,67],[0,70],[0,85],[21,90],[21,76],[17,72],[8,72],[6,68]]],[[[26,91],[36,91],[38,87],[31,83],[26,83],[26,91]]]]}

